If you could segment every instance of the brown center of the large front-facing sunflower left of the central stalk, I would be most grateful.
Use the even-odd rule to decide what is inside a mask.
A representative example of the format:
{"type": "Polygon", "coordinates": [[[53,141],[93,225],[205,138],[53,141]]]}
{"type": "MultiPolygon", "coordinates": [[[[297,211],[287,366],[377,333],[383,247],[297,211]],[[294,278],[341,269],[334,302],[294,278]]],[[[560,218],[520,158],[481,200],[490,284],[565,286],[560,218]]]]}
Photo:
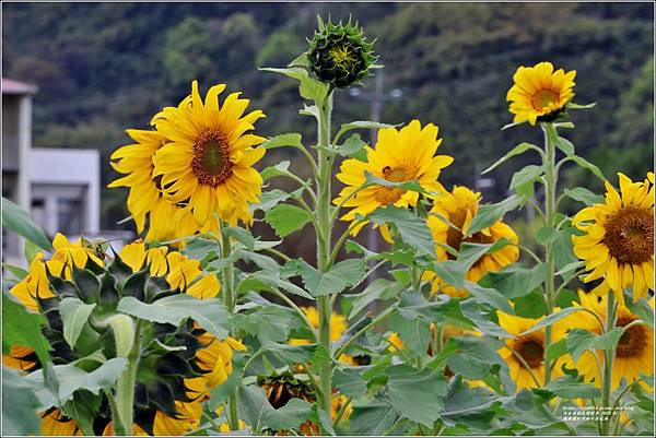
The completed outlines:
{"type": "Polygon", "coordinates": [[[200,184],[216,187],[232,175],[227,140],[222,132],[208,129],[194,145],[191,169],[200,184]]]}

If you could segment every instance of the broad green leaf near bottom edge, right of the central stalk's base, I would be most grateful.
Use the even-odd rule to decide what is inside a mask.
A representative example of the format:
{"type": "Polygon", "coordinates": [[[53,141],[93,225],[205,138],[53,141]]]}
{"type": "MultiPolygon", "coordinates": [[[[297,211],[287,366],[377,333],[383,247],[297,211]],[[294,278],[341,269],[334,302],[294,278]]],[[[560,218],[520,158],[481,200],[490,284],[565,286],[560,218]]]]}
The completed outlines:
{"type": "Polygon", "coordinates": [[[432,427],[444,406],[444,376],[409,365],[394,365],[386,374],[391,407],[408,419],[432,427]]]}

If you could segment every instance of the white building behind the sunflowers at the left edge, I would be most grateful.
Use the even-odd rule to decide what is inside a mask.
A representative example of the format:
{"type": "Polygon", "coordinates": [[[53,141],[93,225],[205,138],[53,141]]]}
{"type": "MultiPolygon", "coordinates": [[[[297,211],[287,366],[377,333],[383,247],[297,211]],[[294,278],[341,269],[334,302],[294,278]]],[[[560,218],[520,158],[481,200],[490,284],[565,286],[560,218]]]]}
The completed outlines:
{"type": "MultiPolygon", "coordinates": [[[[32,97],[36,86],[2,78],[2,197],[31,213],[50,238],[99,234],[109,239],[131,233],[99,232],[101,168],[96,150],[33,149],[32,97]]],[[[113,242],[115,249],[120,242],[113,242]]],[[[21,239],[2,228],[2,259],[25,265],[21,239]]]]}

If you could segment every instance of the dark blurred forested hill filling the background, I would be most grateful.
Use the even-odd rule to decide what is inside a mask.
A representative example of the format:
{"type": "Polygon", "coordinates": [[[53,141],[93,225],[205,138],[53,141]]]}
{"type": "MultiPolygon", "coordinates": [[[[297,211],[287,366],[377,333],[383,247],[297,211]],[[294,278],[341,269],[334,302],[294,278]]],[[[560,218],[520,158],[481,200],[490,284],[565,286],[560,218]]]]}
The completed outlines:
{"type": "MultiPolygon", "coordinates": [[[[293,81],[257,67],[283,66],[305,50],[317,13],[351,14],[378,38],[386,87],[403,92],[386,102],[383,120],[440,125],[443,153],[456,157],[447,184],[472,185],[476,170],[517,142],[540,141],[536,130],[500,128],[511,121],[513,72],[542,60],[576,69],[576,100],[598,102],[573,116],[570,138],[582,155],[607,175],[623,169],[640,178],[652,167],[652,3],[5,3],[3,75],[39,86],[35,146],[99,149],[105,184],[115,177],[107,156],[127,141],[124,130],[147,127],[192,79],[203,90],[226,82],[243,91],[269,116],[263,135],[311,135],[293,81]]],[[[370,113],[345,93],[337,107],[337,121],[370,113]]],[[[514,165],[506,166],[485,191],[491,201],[504,196],[514,165]]],[[[103,227],[125,217],[125,194],[104,191],[103,227]]]]}

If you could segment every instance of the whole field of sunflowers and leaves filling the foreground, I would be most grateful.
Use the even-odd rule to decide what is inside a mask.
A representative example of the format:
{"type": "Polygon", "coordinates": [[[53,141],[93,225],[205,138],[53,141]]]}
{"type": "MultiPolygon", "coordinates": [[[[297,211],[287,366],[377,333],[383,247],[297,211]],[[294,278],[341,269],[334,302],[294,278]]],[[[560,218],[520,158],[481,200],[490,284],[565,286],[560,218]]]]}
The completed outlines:
{"type": "Polygon", "coordinates": [[[441,182],[454,145],[434,120],[331,123],[377,62],[358,23],[319,17],[307,51],[260,69],[297,85],[316,137],[263,135],[276,107],[197,81],[128,129],[109,187],[129,191],[134,241],[50,241],[3,199],[28,265],[4,265],[3,435],[653,435],[654,174],[607,179],[576,154],[595,104],[574,80],[593,79],[518,66],[502,129],[543,143],[485,163],[535,158],[487,203],[441,182]],[[281,147],[312,178],[258,167],[281,147]],[[605,191],[559,185],[572,166],[605,191]],[[530,245],[504,222],[523,209],[530,245]],[[304,228],[311,260],[279,248],[304,228]],[[379,251],[358,238],[372,228],[379,251]]]}

